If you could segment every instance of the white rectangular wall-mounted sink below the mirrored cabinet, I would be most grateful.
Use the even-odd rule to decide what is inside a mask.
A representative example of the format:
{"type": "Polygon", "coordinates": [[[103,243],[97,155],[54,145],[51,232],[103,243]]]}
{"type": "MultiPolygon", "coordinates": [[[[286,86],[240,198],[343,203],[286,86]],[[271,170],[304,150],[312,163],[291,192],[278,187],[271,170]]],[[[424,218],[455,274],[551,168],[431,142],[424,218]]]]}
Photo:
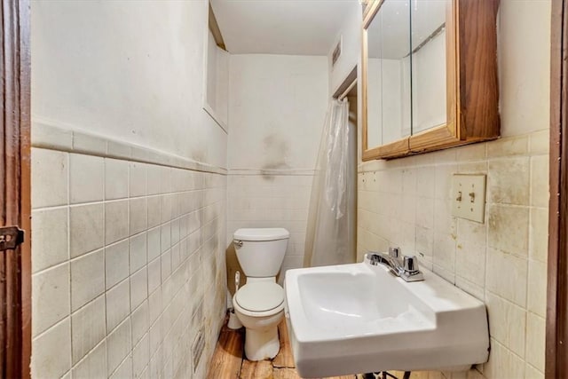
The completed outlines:
{"type": "Polygon", "coordinates": [[[407,283],[366,260],[286,272],[286,318],[302,377],[466,369],[486,362],[485,304],[423,270],[407,283]]]}

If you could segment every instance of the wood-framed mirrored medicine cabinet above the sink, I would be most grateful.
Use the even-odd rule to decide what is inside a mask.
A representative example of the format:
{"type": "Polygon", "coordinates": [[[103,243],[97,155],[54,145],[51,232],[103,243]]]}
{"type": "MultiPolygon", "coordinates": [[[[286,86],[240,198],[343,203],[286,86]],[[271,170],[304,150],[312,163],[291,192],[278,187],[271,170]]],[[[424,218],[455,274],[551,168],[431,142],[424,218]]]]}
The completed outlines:
{"type": "Polygon", "coordinates": [[[361,49],[363,161],[499,137],[498,5],[370,1],[361,49]]]}

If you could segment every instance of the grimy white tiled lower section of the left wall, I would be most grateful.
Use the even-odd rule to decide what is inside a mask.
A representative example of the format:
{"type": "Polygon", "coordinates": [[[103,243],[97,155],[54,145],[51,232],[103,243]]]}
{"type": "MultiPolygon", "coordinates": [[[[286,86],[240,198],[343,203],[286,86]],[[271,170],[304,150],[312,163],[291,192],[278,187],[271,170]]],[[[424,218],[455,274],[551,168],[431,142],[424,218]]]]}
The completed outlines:
{"type": "Polygon", "coordinates": [[[32,161],[32,375],[202,377],[225,315],[225,175],[37,147],[32,161]]]}

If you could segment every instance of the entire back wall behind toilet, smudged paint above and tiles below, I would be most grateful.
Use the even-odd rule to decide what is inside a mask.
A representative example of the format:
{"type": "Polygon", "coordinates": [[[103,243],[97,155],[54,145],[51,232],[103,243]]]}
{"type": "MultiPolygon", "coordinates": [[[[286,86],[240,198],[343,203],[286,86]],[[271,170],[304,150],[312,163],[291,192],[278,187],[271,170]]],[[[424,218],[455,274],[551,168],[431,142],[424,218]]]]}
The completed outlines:
{"type": "Polygon", "coordinates": [[[304,261],[327,58],[232,55],[230,71],[227,246],[241,227],[287,228],[282,279],[304,261]]]}

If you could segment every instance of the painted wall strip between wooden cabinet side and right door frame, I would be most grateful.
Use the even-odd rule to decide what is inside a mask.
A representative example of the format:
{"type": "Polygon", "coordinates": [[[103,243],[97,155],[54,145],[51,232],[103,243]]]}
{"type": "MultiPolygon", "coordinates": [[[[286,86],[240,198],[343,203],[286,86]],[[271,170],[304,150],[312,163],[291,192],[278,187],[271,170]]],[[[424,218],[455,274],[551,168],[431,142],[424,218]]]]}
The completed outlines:
{"type": "Polygon", "coordinates": [[[501,1],[497,55],[503,137],[530,133],[548,122],[550,1],[555,0],[501,1]]]}

